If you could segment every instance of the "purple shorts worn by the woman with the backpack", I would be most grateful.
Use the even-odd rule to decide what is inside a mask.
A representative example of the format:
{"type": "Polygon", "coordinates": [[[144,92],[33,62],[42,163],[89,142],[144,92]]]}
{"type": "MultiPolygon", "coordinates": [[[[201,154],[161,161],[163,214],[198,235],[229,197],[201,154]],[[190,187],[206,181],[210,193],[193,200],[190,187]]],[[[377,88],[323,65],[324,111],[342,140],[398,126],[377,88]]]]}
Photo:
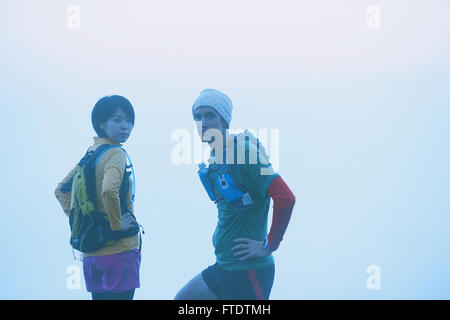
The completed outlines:
{"type": "Polygon", "coordinates": [[[88,292],[122,292],[139,288],[141,253],[134,249],[106,256],[83,258],[88,292]]]}

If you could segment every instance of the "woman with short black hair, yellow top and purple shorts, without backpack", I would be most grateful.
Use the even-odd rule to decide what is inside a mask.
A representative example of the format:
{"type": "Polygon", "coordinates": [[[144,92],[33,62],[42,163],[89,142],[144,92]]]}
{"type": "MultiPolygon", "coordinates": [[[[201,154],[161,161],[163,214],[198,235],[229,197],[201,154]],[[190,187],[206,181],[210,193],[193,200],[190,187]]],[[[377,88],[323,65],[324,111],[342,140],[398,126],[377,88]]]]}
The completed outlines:
{"type": "MultiPolygon", "coordinates": [[[[133,208],[133,188],[130,187],[134,181],[126,175],[127,154],[121,146],[133,130],[134,109],[122,96],[106,96],[95,104],[91,120],[97,136],[88,151],[109,145],[95,165],[96,210],[106,213],[112,231],[127,231],[135,227],[137,221],[133,208]],[[120,194],[123,183],[128,183],[125,195],[120,194]]],[[[67,216],[71,209],[71,189],[64,186],[71,181],[76,168],[69,172],[55,190],[56,198],[67,216]]],[[[140,263],[138,234],[112,241],[98,251],[84,253],[86,289],[91,292],[92,299],[132,300],[135,289],[140,287],[140,263]]]]}

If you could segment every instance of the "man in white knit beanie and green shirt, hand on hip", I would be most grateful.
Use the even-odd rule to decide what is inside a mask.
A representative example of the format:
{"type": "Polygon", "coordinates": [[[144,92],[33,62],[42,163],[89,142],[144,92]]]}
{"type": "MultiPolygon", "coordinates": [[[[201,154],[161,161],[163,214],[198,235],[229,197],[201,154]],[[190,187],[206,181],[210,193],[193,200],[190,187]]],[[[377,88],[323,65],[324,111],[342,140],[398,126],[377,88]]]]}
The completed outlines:
{"type": "Polygon", "coordinates": [[[183,286],[176,300],[263,300],[272,290],[272,252],[283,240],[295,196],[256,137],[228,132],[232,110],[230,98],[214,89],[203,90],[192,106],[200,137],[211,147],[209,166],[199,164],[198,176],[217,207],[216,262],[183,286]],[[267,233],[270,198],[274,209],[267,233]]]}

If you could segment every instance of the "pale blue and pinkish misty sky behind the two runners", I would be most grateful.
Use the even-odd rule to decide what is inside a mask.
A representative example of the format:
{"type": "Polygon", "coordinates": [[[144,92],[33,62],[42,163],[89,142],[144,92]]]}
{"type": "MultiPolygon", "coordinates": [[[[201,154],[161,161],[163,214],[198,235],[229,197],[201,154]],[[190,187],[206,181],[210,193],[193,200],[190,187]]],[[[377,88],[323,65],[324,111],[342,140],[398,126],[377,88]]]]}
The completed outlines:
{"type": "Polygon", "coordinates": [[[280,130],[297,204],[273,299],[450,298],[449,21],[444,0],[2,0],[0,298],[90,298],[83,280],[66,286],[81,264],[53,192],[107,94],[136,111],[136,299],[172,299],[214,262],[215,207],[195,166],[170,160],[206,87],[233,100],[233,128],[280,130]],[[71,4],[80,30],[66,27],[71,4]]]}

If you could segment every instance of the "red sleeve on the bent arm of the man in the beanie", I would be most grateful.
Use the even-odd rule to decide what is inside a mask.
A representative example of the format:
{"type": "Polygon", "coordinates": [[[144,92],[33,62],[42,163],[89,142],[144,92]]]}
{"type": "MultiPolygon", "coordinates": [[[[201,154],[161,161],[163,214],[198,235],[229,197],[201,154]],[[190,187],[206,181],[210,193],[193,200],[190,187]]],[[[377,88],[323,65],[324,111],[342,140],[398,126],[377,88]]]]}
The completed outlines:
{"type": "Polygon", "coordinates": [[[269,235],[268,245],[273,250],[278,249],[283,240],[292,210],[295,204],[295,196],[281,177],[273,179],[267,189],[267,194],[273,199],[273,219],[269,235]]]}

